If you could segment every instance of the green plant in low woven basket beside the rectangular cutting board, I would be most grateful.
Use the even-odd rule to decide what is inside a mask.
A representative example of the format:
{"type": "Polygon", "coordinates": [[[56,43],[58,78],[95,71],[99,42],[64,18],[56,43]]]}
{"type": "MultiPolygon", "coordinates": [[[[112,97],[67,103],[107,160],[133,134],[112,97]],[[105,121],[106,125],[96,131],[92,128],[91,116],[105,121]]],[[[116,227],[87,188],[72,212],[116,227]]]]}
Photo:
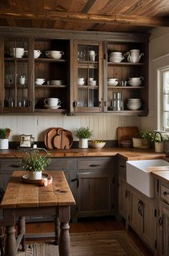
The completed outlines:
{"type": "Polygon", "coordinates": [[[150,148],[153,132],[150,129],[140,131],[138,137],[132,138],[133,148],[150,148]]]}

